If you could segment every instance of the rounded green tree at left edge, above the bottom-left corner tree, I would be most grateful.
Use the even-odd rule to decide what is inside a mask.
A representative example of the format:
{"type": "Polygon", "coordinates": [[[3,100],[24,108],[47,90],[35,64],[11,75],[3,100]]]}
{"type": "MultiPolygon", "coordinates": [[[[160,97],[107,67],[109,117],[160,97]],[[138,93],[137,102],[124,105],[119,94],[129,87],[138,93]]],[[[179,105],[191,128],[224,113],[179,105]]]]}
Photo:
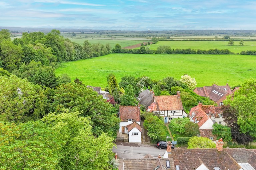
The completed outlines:
{"type": "Polygon", "coordinates": [[[39,85],[15,75],[0,77],[0,121],[27,122],[41,119],[47,97],[39,85]]]}

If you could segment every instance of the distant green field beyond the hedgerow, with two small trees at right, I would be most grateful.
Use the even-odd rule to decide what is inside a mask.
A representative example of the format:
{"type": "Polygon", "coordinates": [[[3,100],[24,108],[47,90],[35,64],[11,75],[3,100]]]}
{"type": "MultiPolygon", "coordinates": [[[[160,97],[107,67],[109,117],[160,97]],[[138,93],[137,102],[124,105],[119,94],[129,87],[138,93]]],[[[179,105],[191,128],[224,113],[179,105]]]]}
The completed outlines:
{"type": "Polygon", "coordinates": [[[176,48],[191,48],[191,49],[229,49],[232,52],[241,52],[243,50],[256,50],[256,41],[245,41],[244,45],[239,45],[235,42],[234,45],[228,45],[228,42],[213,42],[213,41],[159,41],[156,44],[148,45],[150,49],[157,49],[158,46],[169,45],[172,49],[176,48]]]}

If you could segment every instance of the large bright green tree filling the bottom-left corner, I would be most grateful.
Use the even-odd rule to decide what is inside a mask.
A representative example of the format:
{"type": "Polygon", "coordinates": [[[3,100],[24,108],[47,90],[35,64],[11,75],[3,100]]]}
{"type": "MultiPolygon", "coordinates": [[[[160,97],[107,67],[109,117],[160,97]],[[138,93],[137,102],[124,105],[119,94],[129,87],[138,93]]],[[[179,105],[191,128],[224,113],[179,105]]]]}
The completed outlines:
{"type": "Polygon", "coordinates": [[[42,121],[0,122],[0,169],[58,169],[63,141],[42,121]]]}

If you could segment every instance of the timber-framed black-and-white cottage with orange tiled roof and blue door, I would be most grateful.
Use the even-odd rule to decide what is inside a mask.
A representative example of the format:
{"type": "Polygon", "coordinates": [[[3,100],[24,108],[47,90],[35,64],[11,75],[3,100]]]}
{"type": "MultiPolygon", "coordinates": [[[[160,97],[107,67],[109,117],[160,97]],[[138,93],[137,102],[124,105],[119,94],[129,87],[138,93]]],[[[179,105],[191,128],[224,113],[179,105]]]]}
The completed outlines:
{"type": "Polygon", "coordinates": [[[177,91],[177,95],[154,96],[154,102],[148,106],[147,111],[163,116],[165,123],[174,118],[188,117],[188,114],[183,110],[179,91],[177,91]]]}

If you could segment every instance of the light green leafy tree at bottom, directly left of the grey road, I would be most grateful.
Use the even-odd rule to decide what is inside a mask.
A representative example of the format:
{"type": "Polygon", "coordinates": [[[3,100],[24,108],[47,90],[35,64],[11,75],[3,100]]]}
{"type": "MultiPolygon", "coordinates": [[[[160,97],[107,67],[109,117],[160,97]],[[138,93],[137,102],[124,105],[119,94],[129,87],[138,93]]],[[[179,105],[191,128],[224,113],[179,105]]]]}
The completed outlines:
{"type": "Polygon", "coordinates": [[[81,113],[64,110],[59,114],[50,113],[42,120],[64,141],[59,167],[69,170],[98,170],[109,166],[108,155],[112,153],[112,137],[102,132],[95,137],[90,118],[81,113]]]}

